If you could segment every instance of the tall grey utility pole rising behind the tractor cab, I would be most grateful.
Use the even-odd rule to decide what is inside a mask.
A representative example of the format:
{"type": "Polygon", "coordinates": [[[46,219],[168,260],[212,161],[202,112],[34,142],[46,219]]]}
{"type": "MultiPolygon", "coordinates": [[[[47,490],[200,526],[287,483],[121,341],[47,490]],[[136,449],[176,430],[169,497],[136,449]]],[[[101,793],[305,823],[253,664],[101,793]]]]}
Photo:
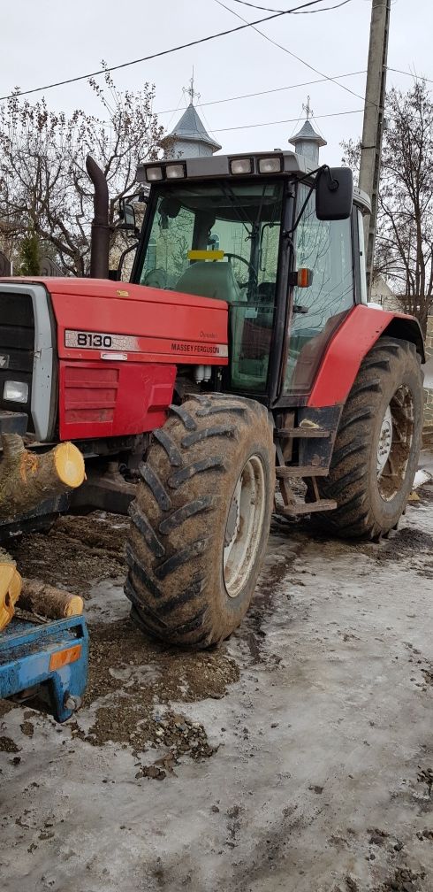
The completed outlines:
{"type": "Polygon", "coordinates": [[[365,262],[367,293],[372,288],[372,270],[376,223],[380,158],[382,152],[385,92],[387,87],[388,32],[391,0],[372,0],[370,46],[368,51],[367,83],[365,87],[364,128],[361,145],[359,187],[372,201],[372,213],[364,218],[365,262]]]}

